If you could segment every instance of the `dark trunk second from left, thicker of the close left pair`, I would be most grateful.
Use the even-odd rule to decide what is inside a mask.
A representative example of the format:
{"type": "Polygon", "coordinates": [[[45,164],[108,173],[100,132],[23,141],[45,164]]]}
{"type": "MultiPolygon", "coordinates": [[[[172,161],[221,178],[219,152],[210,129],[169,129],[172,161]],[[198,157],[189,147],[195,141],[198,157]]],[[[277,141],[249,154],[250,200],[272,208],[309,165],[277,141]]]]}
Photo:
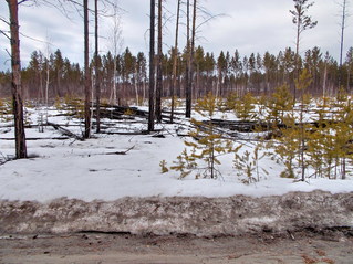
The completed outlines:
{"type": "Polygon", "coordinates": [[[91,135],[91,81],[89,67],[89,0],[83,0],[83,20],[84,20],[84,138],[91,135]]]}

